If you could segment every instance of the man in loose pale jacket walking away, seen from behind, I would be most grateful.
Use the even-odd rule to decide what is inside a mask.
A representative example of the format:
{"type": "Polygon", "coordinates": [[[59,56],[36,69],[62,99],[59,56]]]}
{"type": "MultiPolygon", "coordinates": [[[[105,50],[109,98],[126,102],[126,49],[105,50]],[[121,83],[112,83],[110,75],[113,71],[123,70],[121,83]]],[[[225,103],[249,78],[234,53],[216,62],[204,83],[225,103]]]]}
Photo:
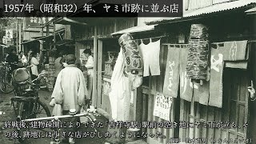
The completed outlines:
{"type": "MultiPolygon", "coordinates": [[[[50,106],[59,104],[62,106],[62,114],[69,114],[71,109],[76,110],[77,114],[80,112],[82,106],[86,105],[86,99],[89,99],[88,91],[86,89],[85,79],[82,70],[75,65],[76,58],[74,54],[68,54],[64,58],[62,69],[56,79],[54,91],[51,98],[50,106]]],[[[78,127],[75,123],[78,118],[66,119],[63,122],[73,123],[73,127],[66,126],[66,134],[68,132],[75,132],[78,127]]],[[[67,138],[67,135],[65,135],[67,138]]],[[[74,138],[69,138],[70,143],[74,143],[74,138]]]]}

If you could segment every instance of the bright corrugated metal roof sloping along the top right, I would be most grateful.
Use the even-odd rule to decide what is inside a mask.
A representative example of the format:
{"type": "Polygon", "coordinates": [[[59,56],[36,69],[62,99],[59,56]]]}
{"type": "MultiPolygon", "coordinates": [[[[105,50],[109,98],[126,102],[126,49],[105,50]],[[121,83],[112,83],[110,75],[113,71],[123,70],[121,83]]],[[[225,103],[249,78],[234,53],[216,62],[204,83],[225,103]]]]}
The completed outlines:
{"type": "Polygon", "coordinates": [[[222,11],[235,10],[238,8],[255,5],[255,4],[256,4],[256,0],[239,0],[234,2],[224,2],[224,3],[215,4],[212,6],[207,6],[198,10],[184,11],[183,17],[163,18],[157,21],[146,22],[146,24],[152,25],[152,24],[160,24],[165,22],[167,23],[174,22],[176,20],[179,21],[185,18],[194,18],[197,16],[205,15],[205,14],[214,14],[222,11]]]}

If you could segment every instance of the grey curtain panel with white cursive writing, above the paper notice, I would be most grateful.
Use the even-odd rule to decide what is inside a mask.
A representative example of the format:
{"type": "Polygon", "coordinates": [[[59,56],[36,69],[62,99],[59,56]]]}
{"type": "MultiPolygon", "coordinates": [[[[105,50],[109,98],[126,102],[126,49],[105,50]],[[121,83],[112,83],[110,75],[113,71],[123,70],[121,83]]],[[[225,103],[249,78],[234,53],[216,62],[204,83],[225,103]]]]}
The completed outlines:
{"type": "Polygon", "coordinates": [[[168,47],[166,75],[162,94],[177,98],[179,83],[179,52],[180,48],[168,47]]]}

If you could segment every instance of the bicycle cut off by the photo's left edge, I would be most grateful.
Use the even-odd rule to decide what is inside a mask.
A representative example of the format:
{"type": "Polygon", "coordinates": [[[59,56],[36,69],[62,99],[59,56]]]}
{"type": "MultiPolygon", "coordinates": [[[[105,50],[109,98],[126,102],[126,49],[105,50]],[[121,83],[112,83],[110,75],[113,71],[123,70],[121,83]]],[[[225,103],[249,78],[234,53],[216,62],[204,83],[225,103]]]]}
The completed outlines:
{"type": "Polygon", "coordinates": [[[10,73],[10,64],[8,62],[2,62],[3,69],[2,74],[0,74],[0,90],[4,94],[9,94],[14,91],[14,86],[12,85],[12,75],[10,73]]]}

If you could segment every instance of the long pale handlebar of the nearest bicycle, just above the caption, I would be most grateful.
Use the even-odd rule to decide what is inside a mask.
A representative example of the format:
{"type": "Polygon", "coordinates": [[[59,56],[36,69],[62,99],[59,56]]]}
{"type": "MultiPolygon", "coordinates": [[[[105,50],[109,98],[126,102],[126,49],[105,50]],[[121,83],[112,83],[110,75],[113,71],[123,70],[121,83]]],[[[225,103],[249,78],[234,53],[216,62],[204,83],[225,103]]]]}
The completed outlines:
{"type": "Polygon", "coordinates": [[[74,117],[88,117],[88,118],[90,118],[91,122],[96,121],[96,118],[94,117],[93,114],[86,113],[86,114],[62,115],[62,116],[54,116],[54,117],[46,117],[46,118],[31,118],[31,119],[24,119],[24,120],[22,120],[22,122],[59,120],[60,118],[74,118],[74,117]]]}

